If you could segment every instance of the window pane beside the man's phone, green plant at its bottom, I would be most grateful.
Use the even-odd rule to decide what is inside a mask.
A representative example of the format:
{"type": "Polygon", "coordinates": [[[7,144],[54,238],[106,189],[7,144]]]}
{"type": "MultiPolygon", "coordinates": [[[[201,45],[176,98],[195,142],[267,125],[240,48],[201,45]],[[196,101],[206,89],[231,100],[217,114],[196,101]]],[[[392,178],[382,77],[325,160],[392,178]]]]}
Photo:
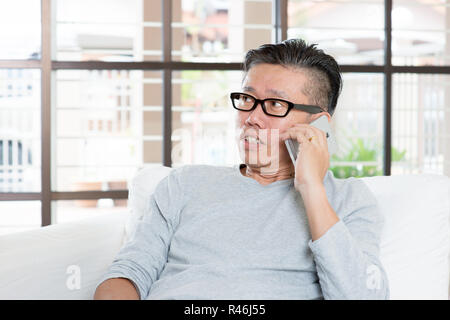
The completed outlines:
{"type": "Polygon", "coordinates": [[[338,150],[330,170],[338,178],[383,175],[383,75],[344,73],[332,117],[338,150]]]}

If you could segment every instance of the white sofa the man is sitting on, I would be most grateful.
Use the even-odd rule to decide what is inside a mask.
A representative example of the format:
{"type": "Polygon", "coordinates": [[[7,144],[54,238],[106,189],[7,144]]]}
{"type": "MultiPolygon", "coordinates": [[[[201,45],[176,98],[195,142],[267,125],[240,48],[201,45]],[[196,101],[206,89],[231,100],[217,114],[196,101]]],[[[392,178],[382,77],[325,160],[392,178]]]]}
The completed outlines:
{"type": "MultiPolygon", "coordinates": [[[[130,184],[129,214],[0,236],[0,299],[91,299],[146,199],[170,170],[138,172],[130,184]]],[[[450,179],[421,174],[362,180],[385,216],[380,258],[391,299],[448,299],[450,179]]]]}

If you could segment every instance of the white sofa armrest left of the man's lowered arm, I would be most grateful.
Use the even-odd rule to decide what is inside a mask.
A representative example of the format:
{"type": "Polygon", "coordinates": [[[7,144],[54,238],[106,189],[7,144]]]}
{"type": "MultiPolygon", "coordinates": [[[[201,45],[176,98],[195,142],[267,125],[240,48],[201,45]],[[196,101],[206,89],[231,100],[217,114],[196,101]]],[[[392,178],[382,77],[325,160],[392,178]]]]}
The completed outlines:
{"type": "Polygon", "coordinates": [[[92,299],[123,244],[127,214],[0,236],[0,299],[92,299]]]}

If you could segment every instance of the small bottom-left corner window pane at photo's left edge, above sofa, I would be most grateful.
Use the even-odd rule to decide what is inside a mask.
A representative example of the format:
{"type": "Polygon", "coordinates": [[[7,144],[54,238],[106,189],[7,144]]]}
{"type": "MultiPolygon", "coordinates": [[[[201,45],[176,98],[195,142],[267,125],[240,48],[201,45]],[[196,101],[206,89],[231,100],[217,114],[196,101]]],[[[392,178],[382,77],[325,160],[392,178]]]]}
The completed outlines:
{"type": "Polygon", "coordinates": [[[40,201],[0,201],[0,235],[40,226],[40,201]]]}

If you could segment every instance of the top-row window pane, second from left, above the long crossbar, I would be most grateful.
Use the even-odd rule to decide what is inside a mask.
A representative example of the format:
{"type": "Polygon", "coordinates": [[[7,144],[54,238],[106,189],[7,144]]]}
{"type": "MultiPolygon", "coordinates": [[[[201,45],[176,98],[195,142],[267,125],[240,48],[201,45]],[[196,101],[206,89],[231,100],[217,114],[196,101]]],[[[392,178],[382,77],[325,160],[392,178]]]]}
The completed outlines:
{"type": "Polygon", "coordinates": [[[56,1],[57,60],[160,60],[161,32],[161,0],[56,1]]]}

